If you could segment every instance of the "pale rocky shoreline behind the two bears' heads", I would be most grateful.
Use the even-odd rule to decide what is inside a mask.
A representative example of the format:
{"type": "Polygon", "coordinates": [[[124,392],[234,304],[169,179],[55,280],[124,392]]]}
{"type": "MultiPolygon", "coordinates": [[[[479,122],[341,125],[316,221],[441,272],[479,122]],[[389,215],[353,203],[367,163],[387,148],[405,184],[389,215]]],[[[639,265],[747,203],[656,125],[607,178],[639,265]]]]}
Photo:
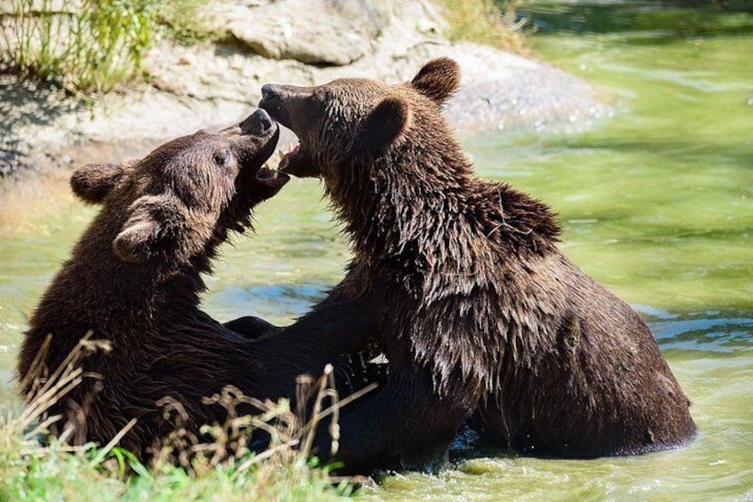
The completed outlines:
{"type": "Polygon", "coordinates": [[[145,59],[149,84],[91,106],[0,77],[0,177],[70,163],[72,155],[85,162],[86,152],[101,145],[126,145],[126,155],[139,155],[156,141],[232,123],[250,112],[266,83],[312,85],[342,76],[400,82],[438,56],[456,59],[463,70],[462,90],[446,109],[461,134],[541,130],[609,109],[591,84],[558,68],[448,42],[441,12],[428,0],[235,0],[210,4],[207,15],[221,42],[162,41],[145,59]]]}

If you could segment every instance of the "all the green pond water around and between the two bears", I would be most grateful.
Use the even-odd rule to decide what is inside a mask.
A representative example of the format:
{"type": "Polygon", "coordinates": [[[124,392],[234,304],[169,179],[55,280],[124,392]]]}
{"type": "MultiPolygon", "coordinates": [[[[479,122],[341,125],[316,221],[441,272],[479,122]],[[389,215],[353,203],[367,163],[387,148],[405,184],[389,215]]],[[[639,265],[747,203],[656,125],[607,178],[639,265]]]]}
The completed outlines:
{"type": "MultiPolygon", "coordinates": [[[[551,203],[567,255],[648,321],[699,434],[630,458],[518,457],[464,438],[438,474],[364,487],[367,500],[753,500],[753,5],[535,2],[536,52],[614,96],[583,132],[464,139],[487,179],[551,203]]],[[[86,159],[83,159],[83,162],[86,159]]],[[[220,320],[289,323],[349,253],[293,180],[234,238],[207,282],[220,320]]],[[[44,218],[0,219],[0,409],[30,310],[94,211],[62,195],[44,218]]],[[[107,278],[102,278],[106,281],[107,278]]]]}

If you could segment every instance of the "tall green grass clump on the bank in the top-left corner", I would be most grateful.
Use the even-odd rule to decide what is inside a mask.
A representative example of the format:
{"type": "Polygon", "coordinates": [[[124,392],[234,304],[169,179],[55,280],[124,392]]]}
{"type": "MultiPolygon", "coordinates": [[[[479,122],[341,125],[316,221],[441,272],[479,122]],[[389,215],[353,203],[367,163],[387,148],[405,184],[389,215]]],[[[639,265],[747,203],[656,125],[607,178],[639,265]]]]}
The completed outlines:
{"type": "Polygon", "coordinates": [[[209,36],[197,13],[207,0],[9,0],[0,11],[0,69],[80,96],[139,80],[160,36],[209,36]]]}

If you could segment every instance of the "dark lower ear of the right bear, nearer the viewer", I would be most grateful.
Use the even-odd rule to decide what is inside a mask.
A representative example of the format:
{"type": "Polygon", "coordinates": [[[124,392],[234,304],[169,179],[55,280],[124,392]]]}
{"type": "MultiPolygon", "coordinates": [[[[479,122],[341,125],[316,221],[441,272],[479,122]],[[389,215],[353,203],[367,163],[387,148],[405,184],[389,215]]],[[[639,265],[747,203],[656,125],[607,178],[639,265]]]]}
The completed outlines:
{"type": "Polygon", "coordinates": [[[384,155],[410,124],[410,107],[400,98],[385,98],[361,125],[359,149],[373,160],[384,155]]]}

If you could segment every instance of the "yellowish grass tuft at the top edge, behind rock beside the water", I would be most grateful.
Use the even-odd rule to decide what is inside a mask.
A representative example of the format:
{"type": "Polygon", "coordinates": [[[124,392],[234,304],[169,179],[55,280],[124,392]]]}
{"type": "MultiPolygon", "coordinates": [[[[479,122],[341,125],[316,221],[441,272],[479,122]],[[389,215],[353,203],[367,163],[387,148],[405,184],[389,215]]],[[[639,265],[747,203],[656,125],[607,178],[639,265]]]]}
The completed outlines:
{"type": "Polygon", "coordinates": [[[526,53],[530,47],[525,22],[515,20],[515,9],[525,0],[440,0],[449,23],[448,37],[526,53]]]}

